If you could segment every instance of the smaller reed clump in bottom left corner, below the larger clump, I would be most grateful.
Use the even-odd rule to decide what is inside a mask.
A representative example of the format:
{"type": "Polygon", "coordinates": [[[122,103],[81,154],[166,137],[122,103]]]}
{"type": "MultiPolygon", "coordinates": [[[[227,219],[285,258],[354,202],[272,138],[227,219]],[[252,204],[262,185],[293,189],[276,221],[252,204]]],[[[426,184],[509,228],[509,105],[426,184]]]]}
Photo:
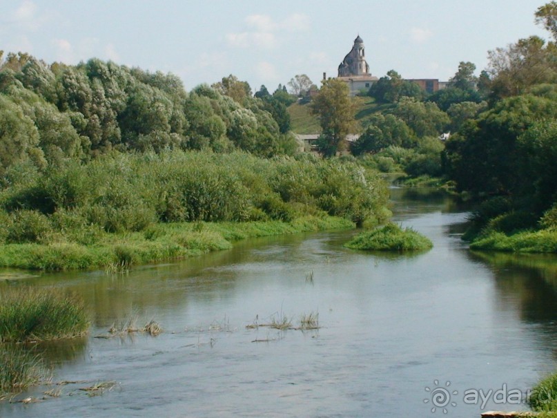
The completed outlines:
{"type": "Polygon", "coordinates": [[[41,359],[21,347],[0,345],[0,400],[48,380],[41,359]]]}

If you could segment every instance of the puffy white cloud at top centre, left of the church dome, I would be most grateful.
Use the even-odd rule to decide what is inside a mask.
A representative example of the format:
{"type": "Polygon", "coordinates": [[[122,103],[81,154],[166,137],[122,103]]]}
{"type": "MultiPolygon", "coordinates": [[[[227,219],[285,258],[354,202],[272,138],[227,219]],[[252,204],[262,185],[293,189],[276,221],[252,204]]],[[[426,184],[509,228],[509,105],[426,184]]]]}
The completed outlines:
{"type": "Polygon", "coordinates": [[[244,19],[246,26],[253,30],[228,33],[225,36],[230,46],[236,48],[271,49],[277,46],[275,33],[300,32],[309,27],[309,17],[295,13],[282,21],[273,21],[268,15],[249,15],[244,19]]]}

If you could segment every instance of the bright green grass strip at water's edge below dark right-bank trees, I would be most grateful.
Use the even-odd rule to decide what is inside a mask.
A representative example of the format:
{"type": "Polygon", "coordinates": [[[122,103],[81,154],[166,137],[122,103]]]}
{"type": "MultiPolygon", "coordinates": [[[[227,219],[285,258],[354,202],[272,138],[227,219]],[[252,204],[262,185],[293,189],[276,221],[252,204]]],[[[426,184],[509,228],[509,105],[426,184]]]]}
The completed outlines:
{"type": "Polygon", "coordinates": [[[557,230],[522,231],[513,235],[493,231],[470,244],[471,249],[524,253],[557,253],[557,230]]]}

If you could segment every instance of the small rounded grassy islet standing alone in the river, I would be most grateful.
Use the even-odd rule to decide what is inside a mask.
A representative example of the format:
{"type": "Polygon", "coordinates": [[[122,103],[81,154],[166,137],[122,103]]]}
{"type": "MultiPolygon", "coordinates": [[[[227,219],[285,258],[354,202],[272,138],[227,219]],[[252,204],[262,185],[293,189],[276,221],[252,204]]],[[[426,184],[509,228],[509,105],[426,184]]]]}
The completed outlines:
{"type": "Polygon", "coordinates": [[[391,222],[384,227],[358,234],[344,247],[380,251],[412,251],[433,247],[429,238],[411,228],[402,229],[391,222]]]}

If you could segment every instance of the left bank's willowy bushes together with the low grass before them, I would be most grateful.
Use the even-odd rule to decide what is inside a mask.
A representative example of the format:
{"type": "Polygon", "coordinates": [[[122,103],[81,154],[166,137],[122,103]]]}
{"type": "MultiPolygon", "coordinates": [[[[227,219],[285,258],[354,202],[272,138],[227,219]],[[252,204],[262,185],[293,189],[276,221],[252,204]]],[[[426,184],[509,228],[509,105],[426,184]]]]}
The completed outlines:
{"type": "Polygon", "coordinates": [[[378,173],[310,155],[103,155],[43,172],[14,166],[4,182],[4,267],[121,270],[228,249],[233,240],[390,216],[378,173]]]}

